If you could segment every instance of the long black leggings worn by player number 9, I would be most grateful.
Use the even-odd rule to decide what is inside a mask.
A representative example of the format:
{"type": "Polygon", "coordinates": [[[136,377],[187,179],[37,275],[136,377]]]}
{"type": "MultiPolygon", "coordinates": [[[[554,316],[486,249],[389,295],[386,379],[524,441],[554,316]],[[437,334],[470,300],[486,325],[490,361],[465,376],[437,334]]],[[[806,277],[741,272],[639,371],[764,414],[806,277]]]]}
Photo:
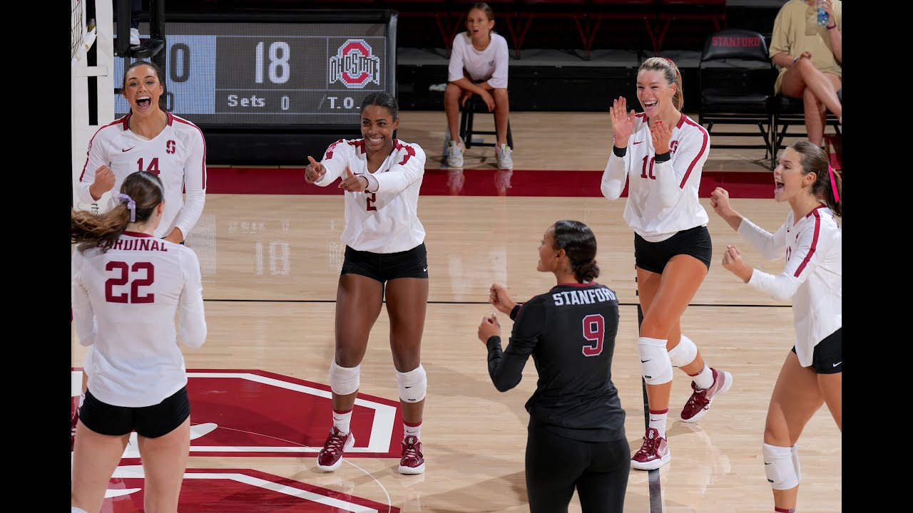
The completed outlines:
{"type": "Polygon", "coordinates": [[[530,423],[526,494],[530,513],[565,513],[577,488],[583,513],[621,513],[631,472],[627,440],[581,442],[530,423]]]}

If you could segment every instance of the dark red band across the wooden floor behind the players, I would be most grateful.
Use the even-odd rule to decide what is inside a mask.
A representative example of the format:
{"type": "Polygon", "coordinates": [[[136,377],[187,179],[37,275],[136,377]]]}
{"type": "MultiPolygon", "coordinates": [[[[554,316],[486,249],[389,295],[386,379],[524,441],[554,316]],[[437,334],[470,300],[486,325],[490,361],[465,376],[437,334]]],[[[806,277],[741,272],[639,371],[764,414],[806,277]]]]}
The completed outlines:
{"type": "MultiPolygon", "coordinates": [[[[207,172],[206,192],[211,194],[342,194],[336,184],[327,187],[305,184],[303,168],[209,167],[207,172]]],[[[599,197],[602,176],[602,171],[467,169],[458,173],[429,169],[425,170],[421,194],[599,197]]],[[[724,187],[733,198],[773,198],[770,172],[705,171],[701,176],[700,197],[708,197],[718,186],[724,187]]],[[[627,195],[626,187],[622,195],[627,195]]]]}

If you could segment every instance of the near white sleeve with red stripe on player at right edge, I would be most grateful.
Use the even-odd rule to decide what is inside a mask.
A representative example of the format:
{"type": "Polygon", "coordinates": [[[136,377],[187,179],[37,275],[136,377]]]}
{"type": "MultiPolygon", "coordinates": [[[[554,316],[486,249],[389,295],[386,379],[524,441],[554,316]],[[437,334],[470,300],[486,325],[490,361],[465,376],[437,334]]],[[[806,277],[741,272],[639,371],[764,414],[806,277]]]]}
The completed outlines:
{"type": "Polygon", "coordinates": [[[830,225],[818,221],[813,230],[803,230],[796,244],[796,250],[786,261],[779,276],[754,269],[748,284],[771,298],[788,301],[796,290],[821,265],[836,240],[836,233],[830,225]]]}

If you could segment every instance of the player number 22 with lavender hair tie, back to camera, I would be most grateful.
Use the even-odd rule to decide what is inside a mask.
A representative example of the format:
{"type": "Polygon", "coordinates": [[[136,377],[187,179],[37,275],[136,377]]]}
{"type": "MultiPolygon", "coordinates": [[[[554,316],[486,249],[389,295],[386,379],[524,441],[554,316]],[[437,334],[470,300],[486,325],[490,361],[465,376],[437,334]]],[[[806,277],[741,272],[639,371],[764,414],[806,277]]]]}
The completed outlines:
{"type": "Polygon", "coordinates": [[[206,339],[200,262],[192,249],[153,236],[166,210],[159,177],[133,173],[120,191],[105,214],[71,215],[73,326],[79,343],[96,351],[77,424],[70,504],[100,511],[136,431],[145,510],[177,511],[190,450],[178,342],[198,348],[206,339]]]}

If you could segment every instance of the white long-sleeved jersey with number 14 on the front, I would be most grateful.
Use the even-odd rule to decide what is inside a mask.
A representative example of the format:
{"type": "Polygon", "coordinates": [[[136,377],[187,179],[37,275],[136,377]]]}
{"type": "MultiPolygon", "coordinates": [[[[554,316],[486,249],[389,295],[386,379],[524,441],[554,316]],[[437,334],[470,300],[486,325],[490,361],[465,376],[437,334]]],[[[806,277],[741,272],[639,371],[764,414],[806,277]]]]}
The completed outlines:
{"type": "Polygon", "coordinates": [[[95,181],[95,170],[106,165],[114,173],[110,204],[120,203],[117,195],[121,183],[131,173],[150,171],[162,179],[165,210],[155,236],[167,236],[174,226],[184,238],[203,214],[206,201],[206,143],[203,132],[194,123],[166,112],[168,124],[152,140],[142,138],[127,127],[127,114],[105,125],[89,141],[89,156],[77,183],[79,201],[95,203],[89,185],[95,181]],[[184,203],[184,192],[187,201],[184,203]]]}

